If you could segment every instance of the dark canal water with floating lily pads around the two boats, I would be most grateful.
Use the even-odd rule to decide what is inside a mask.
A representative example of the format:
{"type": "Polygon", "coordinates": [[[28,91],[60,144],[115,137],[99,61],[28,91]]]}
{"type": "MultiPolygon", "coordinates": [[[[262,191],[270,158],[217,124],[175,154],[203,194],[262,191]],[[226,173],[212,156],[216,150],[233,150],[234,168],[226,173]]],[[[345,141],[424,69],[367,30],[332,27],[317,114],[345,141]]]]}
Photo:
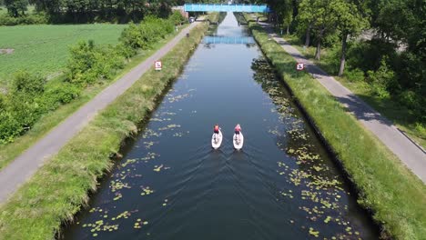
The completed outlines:
{"type": "MultiPolygon", "coordinates": [[[[229,13],[216,35],[251,37],[229,13]]],[[[378,237],[255,44],[200,44],[123,154],[62,238],[378,237]]]]}

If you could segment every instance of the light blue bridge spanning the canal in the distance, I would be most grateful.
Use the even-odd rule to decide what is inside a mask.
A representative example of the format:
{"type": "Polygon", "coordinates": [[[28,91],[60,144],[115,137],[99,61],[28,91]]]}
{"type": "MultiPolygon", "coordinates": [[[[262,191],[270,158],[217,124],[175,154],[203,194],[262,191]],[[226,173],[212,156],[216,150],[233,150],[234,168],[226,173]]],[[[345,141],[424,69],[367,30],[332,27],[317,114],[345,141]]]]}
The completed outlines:
{"type": "Polygon", "coordinates": [[[185,12],[240,12],[240,13],[270,13],[268,5],[204,5],[185,4],[185,12]]]}

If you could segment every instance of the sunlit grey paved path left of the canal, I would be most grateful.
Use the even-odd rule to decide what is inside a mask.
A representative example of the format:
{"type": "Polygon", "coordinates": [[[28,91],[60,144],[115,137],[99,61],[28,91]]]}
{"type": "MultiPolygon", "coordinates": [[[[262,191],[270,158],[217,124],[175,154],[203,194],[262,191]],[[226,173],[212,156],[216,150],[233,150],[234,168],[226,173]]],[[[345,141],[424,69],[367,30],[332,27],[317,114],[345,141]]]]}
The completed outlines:
{"type": "Polygon", "coordinates": [[[57,125],[45,137],[35,145],[27,149],[22,155],[15,158],[14,162],[7,165],[0,172],[0,203],[5,202],[9,195],[25,183],[36,170],[43,165],[46,159],[56,153],[76,135],[94,116],[107,105],[113,102],[117,96],[122,95],[137,79],[147,70],[153,67],[154,62],[166,55],[187,33],[199,22],[183,29],[173,40],[163,46],[156,54],[151,55],[140,65],[133,68],[127,75],[109,85],[90,102],[83,105],[64,122],[57,125]]]}

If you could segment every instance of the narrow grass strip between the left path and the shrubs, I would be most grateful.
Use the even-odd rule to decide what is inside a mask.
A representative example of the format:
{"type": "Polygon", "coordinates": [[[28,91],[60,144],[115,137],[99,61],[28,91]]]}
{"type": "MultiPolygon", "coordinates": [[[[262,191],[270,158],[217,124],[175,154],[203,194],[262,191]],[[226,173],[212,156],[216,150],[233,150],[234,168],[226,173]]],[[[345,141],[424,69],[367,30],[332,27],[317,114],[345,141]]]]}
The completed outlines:
{"type": "MultiPolygon", "coordinates": [[[[179,28],[185,28],[187,25],[183,25],[179,28]]],[[[18,155],[21,155],[28,147],[34,145],[37,140],[46,135],[51,129],[53,129],[60,122],[64,121],[67,116],[76,112],[76,110],[85,105],[98,93],[100,93],[106,86],[114,83],[123,75],[126,75],[133,67],[146,60],[150,55],[153,55],[163,45],[166,45],[171,39],[173,39],[178,33],[168,35],[165,39],[158,41],[156,45],[153,45],[152,49],[143,51],[140,54],[131,58],[130,62],[127,63],[124,69],[120,70],[117,77],[113,81],[99,82],[96,85],[92,85],[85,89],[82,94],[73,102],[67,105],[61,105],[58,109],[42,116],[37,123],[29,130],[25,135],[17,137],[14,143],[4,145],[0,148],[0,170],[12,162],[18,155]]],[[[61,76],[57,77],[52,81],[61,81],[61,76]]]]}

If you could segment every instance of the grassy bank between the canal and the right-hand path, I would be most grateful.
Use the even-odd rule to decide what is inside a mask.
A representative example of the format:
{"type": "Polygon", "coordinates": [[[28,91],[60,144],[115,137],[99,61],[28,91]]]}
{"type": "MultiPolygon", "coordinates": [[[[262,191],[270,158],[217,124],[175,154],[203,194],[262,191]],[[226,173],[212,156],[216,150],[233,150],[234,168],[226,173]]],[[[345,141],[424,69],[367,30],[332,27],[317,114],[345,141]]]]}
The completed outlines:
{"type": "MultiPolygon", "coordinates": [[[[247,17],[247,15],[246,15],[247,17]]],[[[295,69],[296,61],[256,23],[249,28],[284,79],[300,109],[358,191],[358,202],[381,228],[382,238],[426,235],[426,187],[399,159],[349,115],[319,83],[295,69]],[[312,104],[314,103],[314,104],[312,104]]]]}

